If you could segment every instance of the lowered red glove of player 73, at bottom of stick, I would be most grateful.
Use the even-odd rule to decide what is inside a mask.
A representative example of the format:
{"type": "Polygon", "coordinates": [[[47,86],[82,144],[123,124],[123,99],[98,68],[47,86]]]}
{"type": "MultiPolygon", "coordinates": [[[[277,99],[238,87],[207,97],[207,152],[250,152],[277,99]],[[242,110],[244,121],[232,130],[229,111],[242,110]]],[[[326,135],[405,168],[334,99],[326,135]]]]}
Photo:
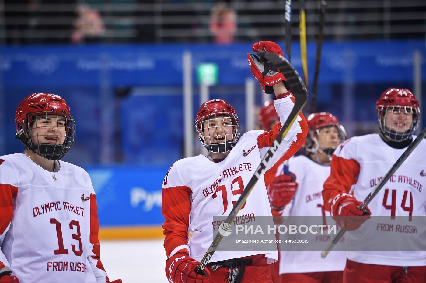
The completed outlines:
{"type": "Polygon", "coordinates": [[[205,268],[207,274],[197,274],[196,267],[200,263],[190,258],[184,252],[178,252],[166,261],[166,276],[170,283],[210,283],[210,271],[205,268]]]}

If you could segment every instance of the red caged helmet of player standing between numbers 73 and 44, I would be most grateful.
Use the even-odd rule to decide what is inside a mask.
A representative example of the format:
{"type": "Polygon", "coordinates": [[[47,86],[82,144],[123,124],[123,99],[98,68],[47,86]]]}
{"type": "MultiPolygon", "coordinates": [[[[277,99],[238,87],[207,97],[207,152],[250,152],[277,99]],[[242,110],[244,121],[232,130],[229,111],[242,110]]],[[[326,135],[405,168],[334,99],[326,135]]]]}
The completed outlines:
{"type": "Polygon", "coordinates": [[[325,164],[320,162],[320,159],[317,156],[317,152],[320,151],[321,153],[325,154],[331,161],[331,156],[333,155],[338,143],[341,143],[346,139],[346,130],[342,125],[340,125],[337,117],[328,112],[312,113],[306,120],[308,122],[309,133],[305,142],[305,150],[309,153],[314,153],[318,163],[327,165],[329,163],[325,164]],[[330,146],[330,144],[321,144],[318,141],[320,129],[324,127],[336,127],[339,133],[339,141],[337,144],[330,146]]]}

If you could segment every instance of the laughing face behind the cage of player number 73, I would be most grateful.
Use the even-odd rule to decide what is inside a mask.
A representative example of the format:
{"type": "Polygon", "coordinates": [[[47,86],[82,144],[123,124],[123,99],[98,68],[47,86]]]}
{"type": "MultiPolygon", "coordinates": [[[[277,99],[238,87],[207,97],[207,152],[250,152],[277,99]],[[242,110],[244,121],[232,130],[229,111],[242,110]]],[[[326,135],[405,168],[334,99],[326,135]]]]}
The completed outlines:
{"type": "Polygon", "coordinates": [[[202,128],[202,134],[207,144],[231,142],[235,133],[235,127],[229,116],[211,116],[203,121],[202,128]]]}

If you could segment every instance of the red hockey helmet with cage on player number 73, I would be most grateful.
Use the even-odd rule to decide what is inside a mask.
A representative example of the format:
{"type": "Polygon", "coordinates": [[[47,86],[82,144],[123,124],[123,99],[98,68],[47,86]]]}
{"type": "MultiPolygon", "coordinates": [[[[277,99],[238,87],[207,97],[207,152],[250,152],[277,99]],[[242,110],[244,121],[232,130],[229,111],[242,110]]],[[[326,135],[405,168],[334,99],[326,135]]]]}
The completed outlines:
{"type": "MultiPolygon", "coordinates": [[[[235,146],[240,135],[239,119],[236,115],[235,109],[224,99],[212,99],[204,102],[196,115],[195,128],[201,144],[203,144],[208,151],[213,153],[224,153],[230,151],[235,146]],[[233,133],[229,141],[225,136],[225,142],[219,142],[217,132],[214,137],[204,136],[203,132],[205,129],[203,127],[203,122],[211,117],[222,117],[222,119],[224,119],[222,125],[225,125],[225,119],[230,119],[230,122],[232,123],[230,126],[233,127],[233,133]],[[206,138],[208,138],[210,142],[207,142],[206,138]],[[217,142],[211,142],[215,138],[217,142]]],[[[222,137],[220,139],[222,139],[222,137]]]]}

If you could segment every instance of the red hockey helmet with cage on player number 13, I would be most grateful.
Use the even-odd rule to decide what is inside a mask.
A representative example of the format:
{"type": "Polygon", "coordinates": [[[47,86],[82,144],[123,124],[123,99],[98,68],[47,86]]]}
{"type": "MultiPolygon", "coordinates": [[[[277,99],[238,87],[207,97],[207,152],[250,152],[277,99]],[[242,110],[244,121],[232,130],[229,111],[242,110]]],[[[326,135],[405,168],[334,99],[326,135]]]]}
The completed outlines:
{"type": "MultiPolygon", "coordinates": [[[[69,112],[66,101],[51,93],[33,93],[27,96],[16,108],[15,137],[26,147],[44,158],[57,160],[62,158],[75,141],[75,122],[69,112]],[[64,119],[65,136],[62,144],[42,143],[32,141],[30,130],[37,119],[64,119]]],[[[43,126],[47,127],[47,126],[43,126]]],[[[58,124],[56,127],[60,127],[58,124]]],[[[38,135],[38,131],[36,132],[38,135]]],[[[59,130],[58,130],[59,133],[59,130]]],[[[59,139],[59,136],[58,136],[59,139]]]]}

